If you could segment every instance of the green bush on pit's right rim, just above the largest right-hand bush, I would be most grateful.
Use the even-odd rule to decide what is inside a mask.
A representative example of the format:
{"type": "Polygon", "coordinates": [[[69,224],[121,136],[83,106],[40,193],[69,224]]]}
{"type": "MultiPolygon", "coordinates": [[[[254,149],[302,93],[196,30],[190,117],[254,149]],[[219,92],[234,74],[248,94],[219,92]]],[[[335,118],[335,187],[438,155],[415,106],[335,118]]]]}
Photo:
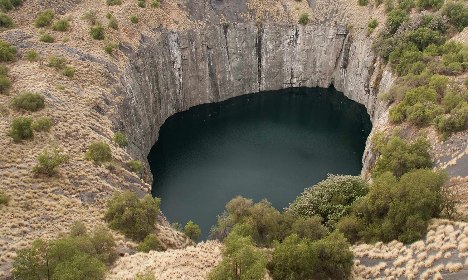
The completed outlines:
{"type": "Polygon", "coordinates": [[[372,177],[376,178],[390,171],[396,178],[413,169],[431,168],[429,152],[430,143],[424,137],[417,138],[409,144],[399,137],[392,136],[390,141],[380,149],[381,156],[376,162],[372,177]]]}

